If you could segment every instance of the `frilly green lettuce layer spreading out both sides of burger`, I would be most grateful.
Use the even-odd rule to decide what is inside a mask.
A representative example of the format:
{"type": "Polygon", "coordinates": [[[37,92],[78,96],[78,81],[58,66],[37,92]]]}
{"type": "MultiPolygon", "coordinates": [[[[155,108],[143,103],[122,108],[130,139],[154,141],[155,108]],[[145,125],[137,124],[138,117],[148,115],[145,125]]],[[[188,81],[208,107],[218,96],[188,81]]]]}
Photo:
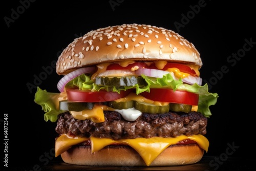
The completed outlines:
{"type": "MultiPolygon", "coordinates": [[[[159,89],[159,88],[168,88],[176,90],[188,91],[191,93],[199,94],[199,102],[198,102],[198,112],[200,112],[205,117],[210,117],[211,112],[209,110],[210,105],[215,105],[217,102],[217,98],[219,97],[217,93],[209,93],[208,85],[204,84],[204,86],[199,86],[197,83],[193,85],[183,84],[182,80],[175,80],[172,75],[165,74],[162,78],[153,78],[142,75],[145,79],[147,85],[140,86],[136,84],[135,86],[98,86],[93,80],[91,80],[91,76],[81,74],[80,76],[72,79],[68,82],[65,88],[79,88],[79,90],[90,90],[92,92],[99,90],[113,91],[118,92],[125,91],[128,89],[136,89],[136,94],[140,94],[144,91],[150,92],[150,89],[159,89]]],[[[65,97],[66,93],[49,93],[46,90],[41,90],[39,87],[37,88],[37,92],[35,94],[35,102],[42,106],[42,110],[46,112],[45,121],[55,122],[57,120],[58,114],[61,114],[65,111],[59,110],[59,101],[62,98],[67,99],[65,97]],[[63,95],[64,94],[64,95],[63,95]]]]}

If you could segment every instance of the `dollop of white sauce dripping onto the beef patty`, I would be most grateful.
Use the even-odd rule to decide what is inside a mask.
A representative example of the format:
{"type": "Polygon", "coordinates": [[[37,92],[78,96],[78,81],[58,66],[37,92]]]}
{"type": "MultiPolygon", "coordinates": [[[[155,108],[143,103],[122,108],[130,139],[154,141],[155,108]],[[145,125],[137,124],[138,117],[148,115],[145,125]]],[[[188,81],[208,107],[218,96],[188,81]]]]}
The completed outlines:
{"type": "Polygon", "coordinates": [[[120,113],[122,117],[127,121],[135,121],[142,114],[142,112],[136,110],[135,108],[122,109],[122,110],[116,109],[115,111],[120,113]]]}

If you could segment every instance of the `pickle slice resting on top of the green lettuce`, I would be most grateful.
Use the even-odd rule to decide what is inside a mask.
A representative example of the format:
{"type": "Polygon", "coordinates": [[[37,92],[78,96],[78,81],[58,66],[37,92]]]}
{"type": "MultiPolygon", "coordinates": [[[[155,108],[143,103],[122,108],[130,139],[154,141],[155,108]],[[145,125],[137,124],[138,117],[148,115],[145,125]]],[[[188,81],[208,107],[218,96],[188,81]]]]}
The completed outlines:
{"type": "Polygon", "coordinates": [[[130,76],[130,77],[96,77],[95,84],[100,86],[145,86],[146,81],[142,77],[130,76]]]}

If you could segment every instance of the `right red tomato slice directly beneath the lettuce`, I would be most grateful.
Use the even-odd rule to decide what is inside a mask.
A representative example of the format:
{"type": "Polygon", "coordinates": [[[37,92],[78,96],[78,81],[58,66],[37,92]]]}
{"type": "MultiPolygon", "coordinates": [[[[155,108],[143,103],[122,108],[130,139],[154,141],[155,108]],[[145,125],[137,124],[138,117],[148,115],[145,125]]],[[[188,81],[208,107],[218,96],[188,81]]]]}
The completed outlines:
{"type": "Polygon", "coordinates": [[[142,92],[140,95],[154,100],[169,103],[198,105],[199,95],[187,91],[174,91],[173,89],[150,89],[150,93],[142,92]]]}

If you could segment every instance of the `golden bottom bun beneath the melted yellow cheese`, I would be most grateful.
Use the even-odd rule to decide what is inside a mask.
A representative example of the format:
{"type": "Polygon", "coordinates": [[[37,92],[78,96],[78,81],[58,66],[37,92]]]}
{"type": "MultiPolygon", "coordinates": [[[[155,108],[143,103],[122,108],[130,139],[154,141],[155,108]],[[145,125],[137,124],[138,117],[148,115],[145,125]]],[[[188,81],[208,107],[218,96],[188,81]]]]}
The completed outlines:
{"type": "MultiPolygon", "coordinates": [[[[150,166],[193,164],[201,160],[204,150],[197,144],[171,145],[150,166]]],[[[61,154],[65,163],[88,166],[147,166],[130,146],[106,146],[91,153],[90,146],[73,146],[61,154]]]]}

